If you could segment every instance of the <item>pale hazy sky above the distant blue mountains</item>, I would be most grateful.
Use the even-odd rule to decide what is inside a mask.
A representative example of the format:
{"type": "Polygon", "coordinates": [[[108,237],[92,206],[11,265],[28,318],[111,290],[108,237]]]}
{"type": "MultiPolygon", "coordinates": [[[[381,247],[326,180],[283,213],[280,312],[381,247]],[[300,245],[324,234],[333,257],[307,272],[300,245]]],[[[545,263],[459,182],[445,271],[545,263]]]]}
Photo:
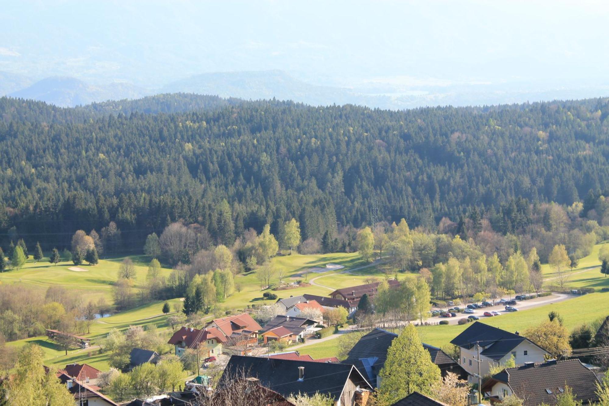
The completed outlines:
{"type": "Polygon", "coordinates": [[[0,70],[158,87],[283,69],[318,84],[609,82],[607,1],[0,0],[0,70]]]}

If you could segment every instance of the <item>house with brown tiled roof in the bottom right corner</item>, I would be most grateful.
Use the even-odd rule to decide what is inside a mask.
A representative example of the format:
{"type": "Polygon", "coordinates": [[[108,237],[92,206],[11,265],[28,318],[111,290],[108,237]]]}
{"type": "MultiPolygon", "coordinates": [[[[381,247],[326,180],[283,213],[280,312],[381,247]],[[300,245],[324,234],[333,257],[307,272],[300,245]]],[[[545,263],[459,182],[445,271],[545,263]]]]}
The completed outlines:
{"type": "Polygon", "coordinates": [[[576,401],[586,405],[599,400],[597,383],[599,380],[594,372],[577,359],[527,362],[491,376],[482,385],[482,393],[491,402],[501,402],[505,396],[515,395],[523,399],[524,406],[554,405],[556,397],[565,391],[565,386],[569,386],[576,401]]]}

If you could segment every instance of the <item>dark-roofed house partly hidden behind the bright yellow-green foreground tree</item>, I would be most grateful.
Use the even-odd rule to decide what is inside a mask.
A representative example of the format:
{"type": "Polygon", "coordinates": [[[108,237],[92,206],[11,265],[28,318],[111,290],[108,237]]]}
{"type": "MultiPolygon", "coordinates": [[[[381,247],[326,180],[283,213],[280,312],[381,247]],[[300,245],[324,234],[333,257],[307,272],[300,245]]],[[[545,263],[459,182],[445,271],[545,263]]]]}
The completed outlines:
{"type": "MultiPolygon", "coordinates": [[[[355,365],[362,374],[365,374],[368,382],[378,388],[381,384],[378,374],[385,365],[387,350],[389,350],[393,339],[396,337],[398,337],[396,333],[376,328],[357,341],[349,351],[347,359],[342,363],[355,365]]],[[[425,343],[423,343],[423,348],[429,351],[431,360],[440,368],[443,377],[448,372],[452,372],[457,374],[459,379],[468,378],[465,369],[461,368],[459,363],[449,357],[446,352],[425,343]]]]}

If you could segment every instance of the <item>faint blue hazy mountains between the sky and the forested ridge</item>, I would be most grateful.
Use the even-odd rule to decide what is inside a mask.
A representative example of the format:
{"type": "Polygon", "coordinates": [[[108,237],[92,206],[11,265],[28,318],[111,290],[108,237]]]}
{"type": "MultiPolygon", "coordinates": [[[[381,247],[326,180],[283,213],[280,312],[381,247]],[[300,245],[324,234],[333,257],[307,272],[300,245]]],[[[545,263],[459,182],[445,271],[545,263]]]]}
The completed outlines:
{"type": "Polygon", "coordinates": [[[419,84],[370,82],[357,88],[319,86],[296,79],[284,71],[205,73],[176,80],[156,89],[128,82],[91,85],[74,77],[48,77],[35,82],[0,71],[0,96],[34,99],[60,107],[93,102],[137,99],[159,93],[196,93],[245,100],[292,100],[309,105],[357,104],[380,109],[412,109],[430,105],[491,105],[552,99],[583,99],[609,94],[609,87],[551,88],[530,84],[419,84]]]}

